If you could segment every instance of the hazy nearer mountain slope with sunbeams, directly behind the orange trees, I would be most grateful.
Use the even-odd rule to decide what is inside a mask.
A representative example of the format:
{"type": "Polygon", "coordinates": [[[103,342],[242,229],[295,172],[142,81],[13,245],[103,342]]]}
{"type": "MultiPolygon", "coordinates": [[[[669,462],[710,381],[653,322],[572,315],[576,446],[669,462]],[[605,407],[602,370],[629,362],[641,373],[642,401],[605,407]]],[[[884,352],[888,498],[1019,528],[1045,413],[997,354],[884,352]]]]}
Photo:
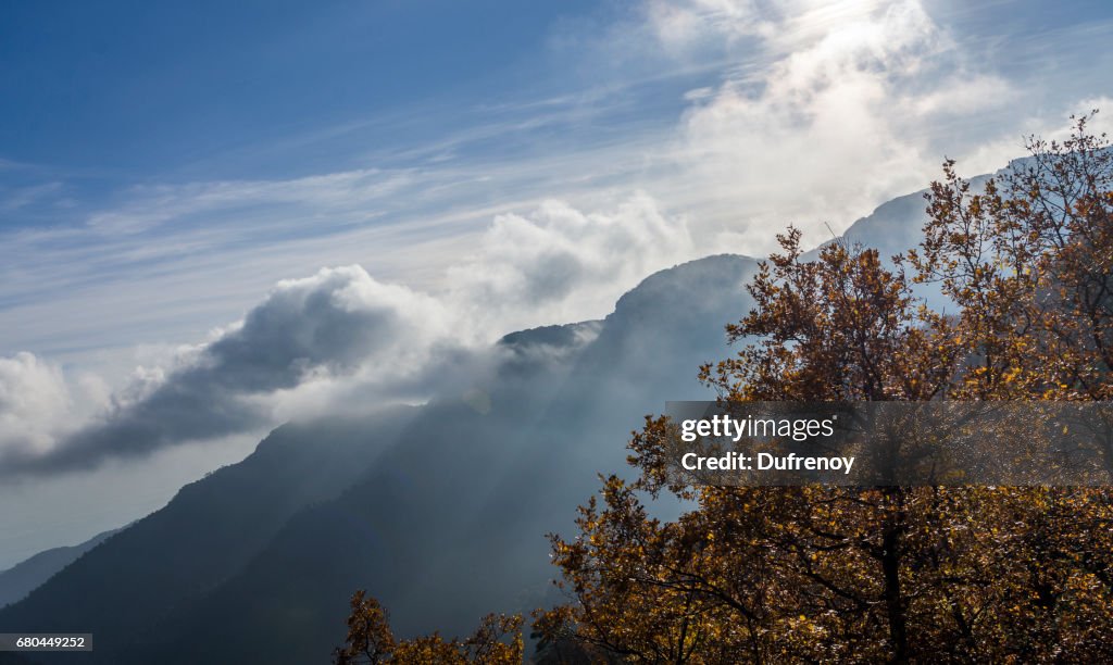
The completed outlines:
{"type": "Polygon", "coordinates": [[[745,311],[755,265],[710,257],[646,279],[559,364],[523,358],[567,331],[509,336],[516,365],[483,386],[489,413],[449,396],[424,407],[352,488],[292,519],[126,662],[322,661],[344,639],[356,588],[401,634],[463,634],[486,612],[551,602],[545,533],[571,528],[597,473],[626,468],[644,414],[696,394],[696,367],[726,353],[722,325],[745,311]]]}

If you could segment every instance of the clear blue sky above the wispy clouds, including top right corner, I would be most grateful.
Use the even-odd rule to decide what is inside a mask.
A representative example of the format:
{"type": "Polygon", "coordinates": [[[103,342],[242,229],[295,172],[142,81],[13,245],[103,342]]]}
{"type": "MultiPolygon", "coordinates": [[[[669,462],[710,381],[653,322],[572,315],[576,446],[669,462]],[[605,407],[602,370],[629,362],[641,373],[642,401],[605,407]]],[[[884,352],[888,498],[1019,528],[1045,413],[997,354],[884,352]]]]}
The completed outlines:
{"type": "MultiPolygon", "coordinates": [[[[1107,34],[1107,3],[963,4],[925,9],[972,53],[992,57],[996,71],[1024,79],[1068,68],[1071,78],[1101,82],[1107,53],[1094,49],[1107,34]]],[[[662,62],[600,61],[601,44],[579,48],[611,39],[608,29],[637,21],[639,9],[493,0],[12,3],[0,26],[0,147],[9,167],[57,176],[92,200],[136,182],[349,168],[368,153],[481,123],[502,103],[652,73],[662,62]],[[349,133],[357,145],[336,139],[349,133]]],[[[715,83],[730,66],[723,50],[711,44],[668,66],[707,68],[715,83]]],[[[674,117],[680,100],[668,101],[632,119],[674,117]]]]}

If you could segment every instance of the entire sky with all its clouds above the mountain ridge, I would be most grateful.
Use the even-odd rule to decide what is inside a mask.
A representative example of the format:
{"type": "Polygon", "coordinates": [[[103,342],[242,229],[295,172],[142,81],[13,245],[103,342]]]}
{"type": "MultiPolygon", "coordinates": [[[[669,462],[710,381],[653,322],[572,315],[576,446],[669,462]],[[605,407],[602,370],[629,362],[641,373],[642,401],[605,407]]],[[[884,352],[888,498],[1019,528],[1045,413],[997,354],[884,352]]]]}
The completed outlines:
{"type": "Polygon", "coordinates": [[[1102,1],[6,3],[0,568],[654,270],[1110,127],[1109,43],[1102,1]]]}

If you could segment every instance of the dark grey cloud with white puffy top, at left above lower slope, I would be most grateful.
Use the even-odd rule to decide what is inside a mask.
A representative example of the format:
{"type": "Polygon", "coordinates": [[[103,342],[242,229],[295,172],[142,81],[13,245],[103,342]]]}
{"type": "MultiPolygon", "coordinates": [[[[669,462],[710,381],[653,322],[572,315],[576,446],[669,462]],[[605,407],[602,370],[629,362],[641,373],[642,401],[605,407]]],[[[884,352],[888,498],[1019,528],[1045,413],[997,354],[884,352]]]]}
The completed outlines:
{"type": "Polygon", "coordinates": [[[401,383],[447,344],[446,324],[429,296],[378,282],[357,266],[285,280],[243,321],[184,350],[176,366],[140,369],[111,408],[52,445],[53,433],[35,426],[66,419],[65,380],[20,354],[0,363],[0,473],[88,468],[273,424],[258,397],[364,367],[401,383]]]}

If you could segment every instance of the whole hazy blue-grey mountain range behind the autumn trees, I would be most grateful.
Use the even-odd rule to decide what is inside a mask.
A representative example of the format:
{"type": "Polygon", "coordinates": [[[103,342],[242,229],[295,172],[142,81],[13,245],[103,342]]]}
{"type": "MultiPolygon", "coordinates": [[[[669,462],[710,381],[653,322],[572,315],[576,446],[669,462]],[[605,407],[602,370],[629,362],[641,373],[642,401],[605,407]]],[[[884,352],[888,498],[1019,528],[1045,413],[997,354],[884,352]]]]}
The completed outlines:
{"type": "MultiPolygon", "coordinates": [[[[847,237],[895,254],[923,219],[902,197],[847,237]]],[[[0,631],[95,634],[92,654],[45,663],[318,663],[357,588],[402,635],[551,604],[545,534],[572,532],[597,474],[630,472],[643,415],[709,397],[698,366],[730,353],[756,269],[721,255],[662,270],[602,321],[508,335],[466,389],[283,426],[0,611],[0,631]]]]}

